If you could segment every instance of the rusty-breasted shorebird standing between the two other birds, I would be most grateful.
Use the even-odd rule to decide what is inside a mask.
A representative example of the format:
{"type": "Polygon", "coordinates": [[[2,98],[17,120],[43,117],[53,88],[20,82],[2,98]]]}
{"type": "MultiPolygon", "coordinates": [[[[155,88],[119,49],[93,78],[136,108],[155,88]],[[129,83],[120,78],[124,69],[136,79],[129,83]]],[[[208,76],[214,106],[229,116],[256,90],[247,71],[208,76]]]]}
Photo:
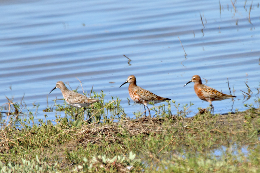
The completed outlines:
{"type": "MultiPolygon", "coordinates": [[[[144,105],[144,115],[146,115],[145,106],[147,107],[149,111],[149,115],[151,116],[150,109],[148,108],[147,104],[152,102],[153,104],[160,103],[166,100],[171,100],[168,98],[160,97],[158,95],[155,95],[154,93],[147,91],[140,86],[136,85],[136,79],[135,76],[131,75],[127,78],[127,81],[123,83],[122,85],[130,83],[128,87],[129,95],[131,99],[136,102],[144,105]]],[[[122,86],[121,85],[121,86],[122,86]]],[[[121,87],[120,86],[120,87],[121,87]]],[[[119,87],[119,88],[120,88],[119,87]]]]}

